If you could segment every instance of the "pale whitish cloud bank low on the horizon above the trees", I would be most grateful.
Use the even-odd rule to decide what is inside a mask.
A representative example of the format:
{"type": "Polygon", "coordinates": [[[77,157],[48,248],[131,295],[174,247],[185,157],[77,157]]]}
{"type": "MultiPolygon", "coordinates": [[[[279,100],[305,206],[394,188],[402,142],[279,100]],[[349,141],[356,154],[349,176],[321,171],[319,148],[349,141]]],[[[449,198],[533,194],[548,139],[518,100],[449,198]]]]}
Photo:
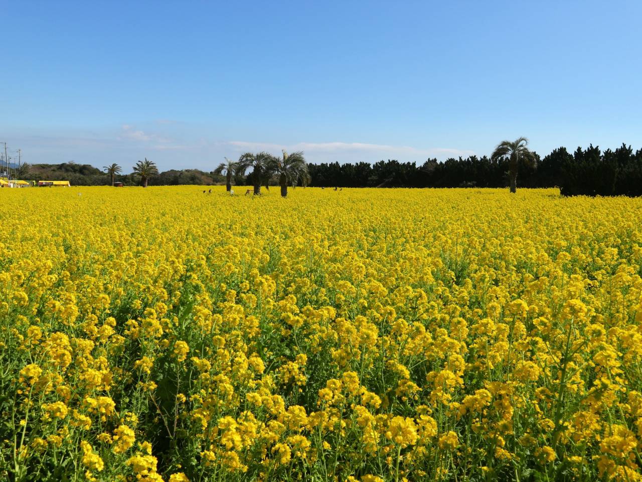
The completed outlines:
{"type": "Polygon", "coordinates": [[[123,123],[108,130],[32,130],[27,135],[14,134],[11,139],[12,145],[22,148],[23,158],[30,163],[60,163],[74,159],[78,163],[102,166],[116,159],[125,170],[144,156],[155,161],[161,170],[177,166],[210,170],[224,156],[233,158],[243,152],[261,150],[279,154],[281,149],[288,152],[302,150],[311,163],[374,163],[379,159],[422,163],[429,157],[442,161],[447,157],[474,154],[472,150],[457,148],[383,143],[229,141],[204,135],[195,129],[177,129],[156,122],[144,125],[123,123]]]}

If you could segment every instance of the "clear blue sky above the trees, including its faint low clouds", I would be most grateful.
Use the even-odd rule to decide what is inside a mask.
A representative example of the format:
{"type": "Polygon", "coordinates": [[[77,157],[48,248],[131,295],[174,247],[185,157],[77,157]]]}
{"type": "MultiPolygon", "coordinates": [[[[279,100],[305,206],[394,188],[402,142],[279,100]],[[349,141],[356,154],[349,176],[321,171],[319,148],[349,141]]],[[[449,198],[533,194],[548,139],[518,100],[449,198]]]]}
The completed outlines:
{"type": "MultiPolygon", "coordinates": [[[[211,170],[642,147],[639,1],[0,0],[0,141],[211,170]]],[[[10,155],[12,155],[10,153],[10,155]]]]}

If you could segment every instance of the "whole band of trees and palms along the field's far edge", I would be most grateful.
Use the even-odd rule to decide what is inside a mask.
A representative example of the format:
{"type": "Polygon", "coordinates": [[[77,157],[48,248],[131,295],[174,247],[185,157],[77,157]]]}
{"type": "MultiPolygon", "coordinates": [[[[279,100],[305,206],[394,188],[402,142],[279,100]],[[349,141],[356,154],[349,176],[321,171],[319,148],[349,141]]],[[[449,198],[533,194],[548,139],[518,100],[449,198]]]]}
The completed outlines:
{"type": "Polygon", "coordinates": [[[302,152],[273,156],[247,152],[236,161],[225,158],[211,172],[196,169],[159,172],[152,161],[140,161],[131,174],[122,174],[117,164],[103,171],[90,165],[23,165],[22,179],[66,179],[72,185],[104,185],[122,182],[134,185],[226,184],[250,185],[256,194],[261,186],[337,188],[525,188],[559,187],[562,195],[642,195],[642,149],[625,144],[614,150],[590,145],[568,152],[560,147],[545,157],[527,148],[527,140],[499,143],[490,157],[451,157],[444,162],[428,159],[421,165],[395,159],[370,163],[308,164],[302,152]],[[106,175],[107,174],[107,175],[106,175]]]}

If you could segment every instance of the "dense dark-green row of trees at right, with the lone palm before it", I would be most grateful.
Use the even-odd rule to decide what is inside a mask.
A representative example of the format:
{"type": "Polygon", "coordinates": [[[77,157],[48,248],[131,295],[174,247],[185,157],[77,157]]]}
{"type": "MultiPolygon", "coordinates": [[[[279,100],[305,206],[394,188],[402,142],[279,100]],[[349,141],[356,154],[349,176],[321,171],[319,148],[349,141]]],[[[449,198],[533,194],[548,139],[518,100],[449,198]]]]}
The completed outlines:
{"type": "MultiPolygon", "coordinates": [[[[518,139],[519,140],[519,139],[518,139]]],[[[503,143],[502,143],[503,144],[503,143]]],[[[501,144],[500,144],[501,146],[501,144]]],[[[499,146],[498,146],[499,148],[499,146]]],[[[309,165],[311,186],[340,188],[524,188],[559,187],[562,195],[642,195],[642,149],[564,147],[545,157],[530,152],[511,159],[504,145],[494,156],[451,157],[421,165],[395,159],[370,163],[309,165]],[[501,152],[505,152],[501,155],[501,152]],[[519,173],[519,174],[517,174],[519,173]]],[[[519,148],[515,146],[515,148],[519,148]]],[[[508,148],[510,150],[510,147],[508,148]]]]}

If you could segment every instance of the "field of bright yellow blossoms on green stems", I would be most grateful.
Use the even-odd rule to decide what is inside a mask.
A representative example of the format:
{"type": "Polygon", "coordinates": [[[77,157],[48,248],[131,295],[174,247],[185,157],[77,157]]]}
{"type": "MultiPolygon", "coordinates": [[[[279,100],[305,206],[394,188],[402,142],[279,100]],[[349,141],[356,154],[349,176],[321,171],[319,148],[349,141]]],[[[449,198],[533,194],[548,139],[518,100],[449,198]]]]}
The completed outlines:
{"type": "Polygon", "coordinates": [[[0,198],[0,479],[641,479],[642,199],[0,198]]]}

